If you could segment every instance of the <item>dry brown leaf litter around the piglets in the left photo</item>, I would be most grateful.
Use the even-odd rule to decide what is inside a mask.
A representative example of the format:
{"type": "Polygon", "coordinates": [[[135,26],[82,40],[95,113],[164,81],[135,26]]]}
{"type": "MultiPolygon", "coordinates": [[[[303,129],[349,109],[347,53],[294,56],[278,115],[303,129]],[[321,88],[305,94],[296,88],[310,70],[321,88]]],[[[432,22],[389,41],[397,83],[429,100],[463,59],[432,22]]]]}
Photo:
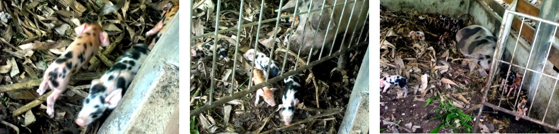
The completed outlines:
{"type": "Polygon", "coordinates": [[[103,117],[87,128],[74,123],[91,80],[132,44],[151,41],[144,33],[162,18],[166,2],[0,1],[0,133],[96,133],[103,117]],[[72,77],[50,118],[44,102],[49,93],[39,96],[35,90],[46,65],[64,52],[77,37],[74,28],[85,22],[101,22],[111,44],[72,77]]]}

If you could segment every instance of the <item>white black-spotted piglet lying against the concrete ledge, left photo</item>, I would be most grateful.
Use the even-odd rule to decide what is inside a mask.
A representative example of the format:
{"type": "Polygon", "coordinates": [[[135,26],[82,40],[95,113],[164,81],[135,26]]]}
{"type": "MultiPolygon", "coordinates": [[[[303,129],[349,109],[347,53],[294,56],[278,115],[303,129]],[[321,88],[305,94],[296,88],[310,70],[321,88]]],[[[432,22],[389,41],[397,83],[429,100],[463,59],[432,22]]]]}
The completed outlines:
{"type": "Polygon", "coordinates": [[[146,44],[139,43],[134,46],[135,48],[122,54],[119,61],[100,79],[91,81],[89,95],[83,101],[82,110],[75,120],[77,125],[87,126],[101,117],[107,108],[112,110],[119,104],[122,95],[149,53],[146,44]]]}

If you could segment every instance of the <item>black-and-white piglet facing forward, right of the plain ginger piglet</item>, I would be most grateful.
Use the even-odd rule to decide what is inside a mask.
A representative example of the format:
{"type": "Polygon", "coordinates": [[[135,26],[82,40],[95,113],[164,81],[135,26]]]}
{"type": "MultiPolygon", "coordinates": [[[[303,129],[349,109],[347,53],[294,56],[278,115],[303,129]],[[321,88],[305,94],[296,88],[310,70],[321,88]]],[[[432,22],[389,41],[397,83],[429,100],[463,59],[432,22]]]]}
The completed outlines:
{"type": "Polygon", "coordinates": [[[283,122],[285,125],[288,126],[293,119],[293,111],[295,111],[295,107],[299,105],[299,88],[301,88],[299,77],[296,76],[288,76],[283,79],[285,82],[285,93],[283,93],[282,97],[282,104],[278,106],[278,110],[281,110],[281,116],[283,118],[283,122]]]}

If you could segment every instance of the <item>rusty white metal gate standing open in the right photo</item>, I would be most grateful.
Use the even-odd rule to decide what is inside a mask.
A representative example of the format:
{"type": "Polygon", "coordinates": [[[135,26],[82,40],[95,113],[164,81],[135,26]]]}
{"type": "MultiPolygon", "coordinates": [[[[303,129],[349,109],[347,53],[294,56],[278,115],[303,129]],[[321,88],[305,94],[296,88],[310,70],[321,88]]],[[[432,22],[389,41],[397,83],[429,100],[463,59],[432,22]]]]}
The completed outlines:
{"type": "MultiPolygon", "coordinates": [[[[484,88],[484,94],[483,94],[484,96],[483,96],[482,101],[481,101],[481,104],[483,106],[480,107],[479,113],[476,117],[476,121],[473,124],[473,126],[474,126],[474,131],[473,132],[477,132],[478,124],[479,124],[481,113],[482,113],[482,110],[484,109],[484,106],[491,107],[494,110],[502,111],[502,112],[508,113],[510,115],[517,116],[517,118],[518,117],[523,118],[524,120],[528,120],[528,121],[537,123],[539,125],[542,125],[542,126],[545,126],[545,127],[548,127],[548,128],[552,128],[554,130],[559,130],[559,125],[557,123],[556,124],[549,124],[549,123],[544,122],[544,121],[546,121],[546,116],[549,117],[549,115],[548,115],[549,104],[553,100],[553,94],[555,93],[555,88],[557,86],[557,81],[559,80],[559,73],[556,76],[552,76],[552,75],[548,75],[548,74],[544,73],[544,70],[545,70],[545,67],[546,67],[545,64],[547,63],[547,60],[548,60],[547,57],[549,56],[549,52],[551,51],[551,48],[553,46],[552,43],[555,42],[555,38],[556,38],[555,33],[557,32],[557,27],[559,27],[559,23],[552,22],[552,21],[547,21],[546,19],[542,19],[542,18],[538,18],[538,17],[534,17],[534,16],[529,16],[528,14],[515,12],[514,9],[516,9],[516,5],[517,5],[517,1],[514,1],[513,3],[511,3],[511,6],[509,6],[508,9],[505,10],[505,13],[503,15],[504,17],[503,17],[503,21],[501,22],[498,42],[496,44],[496,48],[498,48],[498,49],[496,49],[496,52],[494,54],[494,58],[493,58],[494,62],[491,64],[491,71],[489,72],[489,77],[487,77],[487,82],[486,82],[486,85],[485,85],[485,88],[484,88]],[[525,66],[521,66],[520,64],[513,63],[514,57],[518,56],[518,51],[517,51],[517,49],[519,49],[519,47],[518,47],[519,46],[518,45],[519,40],[518,39],[522,38],[520,36],[517,37],[516,42],[514,43],[515,44],[514,45],[514,50],[511,53],[512,58],[510,58],[510,60],[508,60],[508,59],[507,60],[501,60],[501,57],[503,56],[503,53],[505,51],[506,43],[507,43],[508,38],[509,38],[510,28],[511,28],[511,24],[513,22],[513,17],[522,18],[522,22],[524,22],[524,19],[532,19],[533,21],[539,22],[538,25],[536,26],[537,31],[536,31],[536,36],[534,37],[534,41],[533,41],[532,45],[529,46],[529,50],[528,50],[529,56],[528,56],[528,61],[525,63],[525,66]],[[541,35],[541,34],[538,34],[538,32],[544,31],[544,29],[541,28],[542,24],[548,24],[547,26],[553,27],[553,29],[547,29],[547,30],[552,30],[553,31],[553,36],[549,37],[549,38],[551,38],[551,43],[547,43],[547,44],[541,44],[541,42],[538,43],[538,38],[541,39],[541,38],[545,37],[545,36],[538,37],[538,35],[541,35]],[[534,48],[534,46],[538,47],[539,45],[549,45],[549,47],[545,46],[544,49],[534,48]],[[536,50],[534,50],[534,49],[536,49],[536,50]],[[534,63],[534,62],[538,62],[538,61],[537,60],[536,61],[531,60],[534,57],[537,58],[537,56],[542,56],[542,57],[545,56],[542,63],[534,63]],[[495,82],[495,80],[494,80],[496,78],[495,75],[498,74],[501,70],[501,68],[500,68],[501,66],[499,66],[499,64],[504,64],[505,66],[508,66],[508,70],[505,69],[505,72],[511,71],[511,68],[515,67],[515,68],[519,68],[519,70],[520,70],[519,73],[524,74],[524,77],[522,77],[522,81],[520,81],[520,87],[517,90],[518,92],[513,93],[513,95],[515,96],[515,99],[514,99],[515,101],[514,101],[514,106],[513,106],[514,111],[511,111],[507,108],[501,107],[501,102],[503,101],[503,99],[499,99],[499,104],[498,105],[494,105],[494,104],[491,104],[489,102],[486,102],[487,101],[487,93],[490,91],[490,88],[497,87],[497,86],[492,86],[492,85],[494,83],[501,83],[499,81],[495,82]],[[533,67],[529,67],[530,65],[533,66],[533,67]],[[534,68],[536,68],[536,69],[534,69],[534,68]],[[532,74],[532,77],[531,77],[532,79],[527,79],[527,78],[529,78],[526,75],[527,73],[532,74]],[[549,100],[547,100],[547,107],[544,110],[543,117],[541,117],[542,120],[538,120],[536,118],[533,118],[534,115],[531,115],[532,117],[530,117],[530,113],[533,111],[534,107],[538,107],[538,106],[533,105],[534,100],[542,99],[542,98],[536,98],[536,96],[538,96],[538,88],[542,88],[541,85],[546,84],[544,82],[541,83],[542,77],[543,78],[554,79],[555,80],[555,85],[553,85],[553,88],[551,89],[552,90],[551,97],[549,97],[549,100]],[[537,80],[537,83],[533,83],[536,80],[537,80]],[[532,83],[530,83],[530,82],[532,82],[532,83]],[[528,83],[528,84],[526,84],[526,83],[528,83]],[[528,97],[525,99],[527,102],[526,101],[524,101],[524,102],[520,101],[519,98],[520,98],[520,91],[522,91],[522,88],[521,88],[522,85],[530,85],[530,87],[532,87],[533,85],[531,85],[531,84],[536,84],[536,86],[535,86],[535,88],[528,89],[528,97]],[[530,92],[533,92],[533,93],[530,94],[530,92]],[[520,106],[525,106],[525,107],[519,108],[520,107],[519,105],[520,106]],[[527,110],[524,110],[524,108],[527,108],[527,110]],[[527,115],[524,115],[524,114],[521,114],[521,113],[524,113],[524,114],[527,114],[527,115]]],[[[523,24],[524,23],[522,23],[521,26],[520,26],[520,29],[519,29],[519,32],[518,32],[519,34],[522,32],[522,28],[523,28],[522,25],[523,24]]],[[[544,38],[544,39],[546,39],[546,38],[544,38]]],[[[544,40],[544,39],[541,39],[541,40],[544,40]]],[[[548,42],[548,41],[546,41],[546,42],[548,42]]],[[[542,47],[540,47],[540,48],[542,48],[542,47]]],[[[517,61],[517,62],[520,62],[520,61],[517,61]]],[[[506,73],[506,77],[504,77],[505,80],[503,80],[503,81],[505,81],[505,83],[508,81],[506,78],[508,78],[509,75],[510,75],[510,73],[506,73]]],[[[547,84],[552,84],[552,83],[547,83],[547,84]]],[[[525,87],[528,87],[528,86],[525,86],[525,87]]],[[[504,92],[508,91],[508,88],[501,89],[501,87],[499,87],[499,89],[502,90],[500,92],[501,92],[501,98],[503,98],[503,96],[506,95],[504,92]]],[[[542,90],[542,89],[539,89],[539,90],[542,90]]],[[[543,90],[548,90],[548,89],[546,89],[546,87],[544,87],[543,90]]],[[[511,91],[508,91],[508,92],[511,92],[511,91]]],[[[542,106],[542,105],[540,105],[540,106],[542,106]]],[[[538,108],[542,108],[542,107],[538,107],[538,108]]]]}

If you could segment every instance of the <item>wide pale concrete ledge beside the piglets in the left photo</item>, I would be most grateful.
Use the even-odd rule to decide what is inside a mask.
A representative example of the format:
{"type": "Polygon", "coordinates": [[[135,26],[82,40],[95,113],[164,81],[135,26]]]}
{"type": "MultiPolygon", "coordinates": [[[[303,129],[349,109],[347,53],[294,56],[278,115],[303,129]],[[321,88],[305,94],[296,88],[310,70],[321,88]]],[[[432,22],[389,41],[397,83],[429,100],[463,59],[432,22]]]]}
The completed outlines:
{"type": "Polygon", "coordinates": [[[164,132],[178,105],[178,24],[179,12],[98,133],[164,132]]]}

